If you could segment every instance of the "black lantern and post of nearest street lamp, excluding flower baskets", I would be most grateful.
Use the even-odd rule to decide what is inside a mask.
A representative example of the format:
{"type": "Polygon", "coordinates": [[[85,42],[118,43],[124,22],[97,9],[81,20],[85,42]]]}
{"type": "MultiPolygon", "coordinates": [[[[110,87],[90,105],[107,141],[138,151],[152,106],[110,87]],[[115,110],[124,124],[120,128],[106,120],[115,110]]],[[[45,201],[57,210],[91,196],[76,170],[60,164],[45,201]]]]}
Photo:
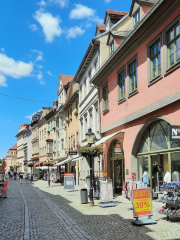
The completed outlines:
{"type": "MultiPolygon", "coordinates": [[[[93,140],[94,140],[94,133],[91,131],[91,128],[88,129],[88,132],[85,134],[86,135],[86,140],[87,143],[89,144],[89,146],[91,147],[91,145],[93,144],[93,140]]],[[[89,192],[89,196],[90,196],[90,205],[94,206],[94,201],[93,201],[93,186],[92,186],[92,155],[88,154],[89,159],[90,159],[90,192],[89,192]]]]}

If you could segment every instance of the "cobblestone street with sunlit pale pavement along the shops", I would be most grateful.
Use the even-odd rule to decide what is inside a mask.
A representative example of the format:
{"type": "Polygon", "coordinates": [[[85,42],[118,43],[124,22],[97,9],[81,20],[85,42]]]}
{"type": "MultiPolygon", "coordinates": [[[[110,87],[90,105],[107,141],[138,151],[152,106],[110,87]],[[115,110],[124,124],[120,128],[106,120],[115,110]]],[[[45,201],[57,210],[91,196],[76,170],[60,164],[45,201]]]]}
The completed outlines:
{"type": "Polygon", "coordinates": [[[100,208],[80,204],[79,188],[68,192],[46,181],[19,184],[10,181],[7,199],[0,199],[0,239],[24,240],[152,240],[180,239],[180,225],[163,220],[157,213],[162,205],[153,202],[156,225],[131,224],[131,204],[116,196],[116,207],[100,208]]]}

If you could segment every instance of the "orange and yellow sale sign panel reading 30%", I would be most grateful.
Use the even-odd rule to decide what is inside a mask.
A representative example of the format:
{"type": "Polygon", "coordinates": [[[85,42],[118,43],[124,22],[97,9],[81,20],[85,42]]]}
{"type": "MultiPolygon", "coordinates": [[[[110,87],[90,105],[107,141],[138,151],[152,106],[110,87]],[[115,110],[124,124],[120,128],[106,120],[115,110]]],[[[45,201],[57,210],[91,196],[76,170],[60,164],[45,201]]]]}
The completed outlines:
{"type": "Polygon", "coordinates": [[[152,216],[150,188],[133,190],[133,210],[134,217],[152,216]]]}

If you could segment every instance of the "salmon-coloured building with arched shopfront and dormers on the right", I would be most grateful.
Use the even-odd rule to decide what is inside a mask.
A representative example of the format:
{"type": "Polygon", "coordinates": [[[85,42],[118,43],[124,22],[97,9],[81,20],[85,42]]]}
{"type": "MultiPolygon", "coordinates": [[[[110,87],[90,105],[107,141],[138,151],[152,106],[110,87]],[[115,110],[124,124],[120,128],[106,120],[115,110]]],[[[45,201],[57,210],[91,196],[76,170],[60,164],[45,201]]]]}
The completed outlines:
{"type": "Polygon", "coordinates": [[[167,172],[180,176],[180,142],[168,133],[180,125],[180,1],[133,0],[129,15],[127,31],[109,32],[107,44],[119,45],[91,80],[106,139],[103,171],[117,193],[132,172],[139,180],[147,173],[156,193],[167,172]]]}

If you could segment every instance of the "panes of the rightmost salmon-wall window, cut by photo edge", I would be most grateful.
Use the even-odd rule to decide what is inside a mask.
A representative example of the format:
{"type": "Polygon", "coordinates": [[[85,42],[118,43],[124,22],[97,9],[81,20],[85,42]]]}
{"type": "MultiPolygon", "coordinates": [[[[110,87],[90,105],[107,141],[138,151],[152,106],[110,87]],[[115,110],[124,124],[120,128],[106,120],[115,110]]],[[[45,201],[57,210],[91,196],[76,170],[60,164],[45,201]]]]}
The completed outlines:
{"type": "Polygon", "coordinates": [[[168,33],[168,67],[173,66],[180,60],[180,28],[179,23],[168,33]]]}

